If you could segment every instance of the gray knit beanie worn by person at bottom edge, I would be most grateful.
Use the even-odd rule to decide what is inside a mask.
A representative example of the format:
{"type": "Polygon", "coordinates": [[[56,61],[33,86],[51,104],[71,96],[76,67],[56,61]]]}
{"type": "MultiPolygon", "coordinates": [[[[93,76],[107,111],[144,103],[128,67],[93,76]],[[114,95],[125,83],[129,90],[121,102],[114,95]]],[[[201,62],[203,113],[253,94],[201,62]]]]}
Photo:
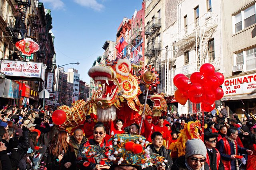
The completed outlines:
{"type": "Polygon", "coordinates": [[[196,154],[200,154],[206,158],[206,147],[201,139],[188,140],[185,145],[185,158],[196,154]]]}

